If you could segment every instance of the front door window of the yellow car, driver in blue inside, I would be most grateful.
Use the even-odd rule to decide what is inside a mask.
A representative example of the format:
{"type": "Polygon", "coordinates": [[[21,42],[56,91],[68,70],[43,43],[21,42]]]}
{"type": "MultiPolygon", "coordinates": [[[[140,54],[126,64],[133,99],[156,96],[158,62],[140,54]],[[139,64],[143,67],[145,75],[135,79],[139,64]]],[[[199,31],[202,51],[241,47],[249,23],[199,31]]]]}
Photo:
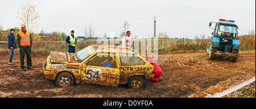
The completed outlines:
{"type": "Polygon", "coordinates": [[[89,60],[87,65],[117,68],[114,55],[110,56],[109,54],[98,54],[96,57],[89,60]]]}

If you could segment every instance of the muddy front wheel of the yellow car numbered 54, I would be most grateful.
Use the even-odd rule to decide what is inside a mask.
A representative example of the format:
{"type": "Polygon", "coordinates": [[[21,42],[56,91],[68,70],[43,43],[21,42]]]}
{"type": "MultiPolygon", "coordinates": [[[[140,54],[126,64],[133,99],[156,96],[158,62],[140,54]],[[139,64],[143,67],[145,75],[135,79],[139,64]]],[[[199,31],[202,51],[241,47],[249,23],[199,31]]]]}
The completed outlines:
{"type": "Polygon", "coordinates": [[[72,86],[75,80],[71,73],[61,72],[57,75],[55,83],[58,87],[72,86]]]}

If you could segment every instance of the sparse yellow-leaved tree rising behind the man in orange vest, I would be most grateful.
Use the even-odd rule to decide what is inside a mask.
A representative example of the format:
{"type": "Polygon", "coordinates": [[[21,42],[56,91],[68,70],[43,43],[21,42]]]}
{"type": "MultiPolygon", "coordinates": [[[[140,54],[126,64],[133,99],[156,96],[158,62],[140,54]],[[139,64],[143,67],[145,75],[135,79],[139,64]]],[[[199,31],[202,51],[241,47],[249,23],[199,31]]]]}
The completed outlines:
{"type": "Polygon", "coordinates": [[[38,20],[40,19],[39,12],[36,11],[36,5],[26,3],[20,6],[16,16],[20,23],[26,24],[26,30],[34,32],[38,28],[38,20]]]}

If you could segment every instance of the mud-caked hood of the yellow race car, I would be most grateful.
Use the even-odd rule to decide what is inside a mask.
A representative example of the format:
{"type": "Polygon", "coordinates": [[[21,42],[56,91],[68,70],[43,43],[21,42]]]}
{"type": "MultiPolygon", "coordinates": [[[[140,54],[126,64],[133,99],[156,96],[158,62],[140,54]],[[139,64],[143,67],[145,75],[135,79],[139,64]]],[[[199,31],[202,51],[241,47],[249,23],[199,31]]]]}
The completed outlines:
{"type": "Polygon", "coordinates": [[[52,63],[58,64],[58,63],[77,63],[75,56],[73,56],[75,53],[64,53],[64,52],[51,52],[50,54],[50,60],[52,63]]]}

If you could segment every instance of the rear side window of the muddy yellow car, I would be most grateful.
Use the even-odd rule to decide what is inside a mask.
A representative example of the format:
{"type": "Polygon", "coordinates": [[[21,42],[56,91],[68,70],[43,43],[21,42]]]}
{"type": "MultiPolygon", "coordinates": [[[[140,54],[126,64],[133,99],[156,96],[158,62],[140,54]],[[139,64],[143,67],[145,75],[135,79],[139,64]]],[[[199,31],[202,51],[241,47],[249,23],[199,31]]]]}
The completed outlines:
{"type": "Polygon", "coordinates": [[[132,66],[132,65],[145,65],[146,62],[144,62],[141,58],[136,56],[135,54],[124,54],[120,53],[120,61],[122,66],[132,66]]]}

